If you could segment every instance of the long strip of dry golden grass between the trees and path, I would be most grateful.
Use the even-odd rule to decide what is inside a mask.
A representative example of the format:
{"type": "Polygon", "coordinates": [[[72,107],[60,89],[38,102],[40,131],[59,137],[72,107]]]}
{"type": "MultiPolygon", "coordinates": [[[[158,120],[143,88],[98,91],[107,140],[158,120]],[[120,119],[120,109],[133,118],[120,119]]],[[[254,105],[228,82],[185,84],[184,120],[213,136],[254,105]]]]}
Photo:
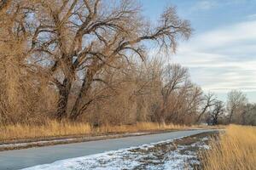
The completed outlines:
{"type": "Polygon", "coordinates": [[[159,125],[153,122],[139,122],[136,125],[90,127],[88,123],[70,123],[49,121],[44,125],[16,124],[0,127],[0,141],[12,139],[37,139],[61,137],[66,135],[96,133],[135,133],[140,131],[172,130],[189,128],[180,125],[159,125]]]}

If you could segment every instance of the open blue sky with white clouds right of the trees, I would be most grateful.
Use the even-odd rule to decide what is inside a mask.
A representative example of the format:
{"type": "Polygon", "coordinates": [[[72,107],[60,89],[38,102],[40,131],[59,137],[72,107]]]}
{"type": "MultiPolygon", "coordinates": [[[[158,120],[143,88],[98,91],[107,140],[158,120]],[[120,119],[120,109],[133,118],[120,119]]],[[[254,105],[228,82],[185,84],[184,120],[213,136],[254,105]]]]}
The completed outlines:
{"type": "Polygon", "coordinates": [[[225,100],[239,89],[256,102],[256,0],[140,0],[153,22],[168,5],[194,29],[170,62],[189,67],[191,78],[225,100]]]}

